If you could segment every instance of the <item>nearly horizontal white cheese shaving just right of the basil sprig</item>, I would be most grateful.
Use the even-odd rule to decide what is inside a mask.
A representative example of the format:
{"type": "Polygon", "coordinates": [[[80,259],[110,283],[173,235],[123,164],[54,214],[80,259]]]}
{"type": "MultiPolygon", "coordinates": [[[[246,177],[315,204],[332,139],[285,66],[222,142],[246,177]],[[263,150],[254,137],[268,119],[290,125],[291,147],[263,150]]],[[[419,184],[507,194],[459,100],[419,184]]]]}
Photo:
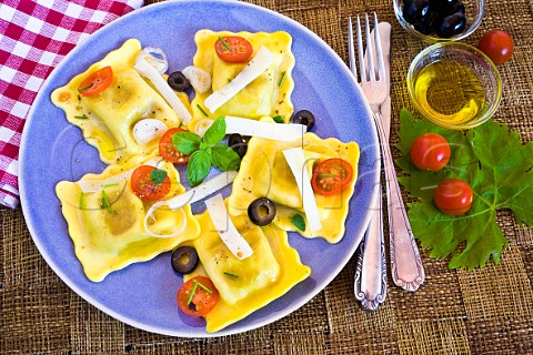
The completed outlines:
{"type": "Polygon", "coordinates": [[[225,116],[225,133],[239,133],[274,141],[294,141],[303,138],[308,128],[303,124],[281,124],[244,118],[225,116]]]}

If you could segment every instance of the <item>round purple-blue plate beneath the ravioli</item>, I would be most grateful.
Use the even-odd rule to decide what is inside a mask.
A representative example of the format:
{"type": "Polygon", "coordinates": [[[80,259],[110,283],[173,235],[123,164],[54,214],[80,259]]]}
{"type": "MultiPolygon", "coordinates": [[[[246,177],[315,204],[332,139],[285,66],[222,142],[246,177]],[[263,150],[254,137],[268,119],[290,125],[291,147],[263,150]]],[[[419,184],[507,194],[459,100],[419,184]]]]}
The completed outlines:
{"type": "MultiPolygon", "coordinates": [[[[372,187],[378,180],[378,135],[370,106],[344,62],[316,34],[276,12],[237,1],[165,1],[120,18],[90,36],[58,65],[39,92],[26,122],[20,151],[20,192],[28,227],[40,253],[64,283],[107,314],[149,332],[208,337],[250,331],[298,310],[322,291],[350,260],[370,219],[372,187]],[[194,33],[214,31],[286,31],[293,38],[295,110],[308,109],[319,118],[315,133],[355,141],[361,148],[359,179],[350,202],[346,233],[338,244],[305,240],[291,233],[289,241],[312,270],[311,276],[289,293],[247,318],[215,334],[180,317],[175,293],[182,278],[170,266],[170,253],[113,272],[101,283],[90,282],[68,234],[54,186],[76,181],[105,165],[87,144],[81,131],[69,124],[50,101],[51,92],[127,39],[143,47],[162,48],[170,71],[192,63],[194,33]]],[[[201,203],[200,203],[201,204],[201,203]]],[[[199,206],[193,206],[195,210],[199,206]]]]}

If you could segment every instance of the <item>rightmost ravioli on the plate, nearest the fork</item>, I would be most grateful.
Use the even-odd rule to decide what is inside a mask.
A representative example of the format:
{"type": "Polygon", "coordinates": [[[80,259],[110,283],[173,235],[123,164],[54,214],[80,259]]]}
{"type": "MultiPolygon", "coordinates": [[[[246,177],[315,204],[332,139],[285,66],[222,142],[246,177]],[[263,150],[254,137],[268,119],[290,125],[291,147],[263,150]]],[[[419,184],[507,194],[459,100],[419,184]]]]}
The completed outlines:
{"type": "Polygon", "coordinates": [[[305,133],[302,139],[290,142],[254,136],[248,144],[239,174],[233,181],[233,190],[228,201],[229,213],[244,215],[254,200],[268,197],[276,205],[273,224],[280,229],[296,231],[305,237],[323,237],[329,243],[338,243],[344,235],[349,202],[358,176],[359,155],[359,145],[355,142],[343,143],[334,138],[323,140],[314,133],[305,133]],[[309,229],[300,190],[283,155],[283,150],[296,146],[303,149],[309,176],[312,175],[314,164],[330,158],[341,158],[353,168],[352,181],[340,194],[314,194],[322,223],[322,229],[314,233],[309,229]],[[291,222],[295,214],[304,217],[304,231],[298,230],[291,222]]]}

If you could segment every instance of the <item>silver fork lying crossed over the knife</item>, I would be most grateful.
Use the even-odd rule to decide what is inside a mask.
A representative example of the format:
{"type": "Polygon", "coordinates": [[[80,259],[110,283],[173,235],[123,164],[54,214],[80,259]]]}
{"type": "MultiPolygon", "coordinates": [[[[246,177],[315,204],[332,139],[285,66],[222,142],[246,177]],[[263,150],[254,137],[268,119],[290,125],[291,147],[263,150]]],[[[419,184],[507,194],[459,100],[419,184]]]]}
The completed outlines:
{"type": "MultiPolygon", "coordinates": [[[[363,40],[361,36],[361,22],[358,17],[358,53],[359,53],[359,64],[360,64],[360,71],[361,71],[361,81],[359,83],[370,105],[374,109],[373,118],[374,118],[375,125],[378,128],[378,133],[381,142],[380,145],[381,145],[381,153],[382,153],[382,163],[385,172],[386,197],[388,197],[392,278],[394,283],[402,288],[406,291],[416,291],[420,287],[420,285],[424,282],[425,273],[422,266],[422,261],[420,258],[416,243],[414,241],[414,236],[411,231],[411,225],[409,223],[409,219],[406,215],[401,190],[398,184],[398,176],[394,170],[394,161],[392,158],[391,149],[389,146],[389,142],[386,138],[388,134],[383,126],[383,120],[381,116],[381,104],[385,101],[388,97],[388,91],[386,91],[388,83],[385,78],[383,51],[381,48],[381,41],[380,41],[380,34],[379,34],[378,16],[375,14],[375,12],[374,12],[374,34],[375,34],[374,42],[375,42],[375,53],[378,57],[376,59],[378,73],[375,71],[375,59],[373,55],[374,51],[371,48],[370,24],[369,24],[368,14],[365,16],[365,34],[366,34],[366,44],[368,44],[368,49],[366,49],[368,61],[365,61],[363,57],[363,40]]],[[[350,68],[355,79],[358,79],[351,19],[350,19],[349,36],[350,36],[350,40],[349,40],[350,68]]],[[[381,190],[381,185],[376,190],[381,190]]],[[[379,236],[379,239],[381,239],[381,245],[383,245],[382,233],[383,232],[381,230],[381,236],[379,236]]],[[[372,234],[373,234],[372,230],[370,230],[368,235],[372,235],[372,234]]],[[[375,240],[375,237],[370,237],[370,239],[375,240]]],[[[366,246],[366,244],[369,243],[365,242],[364,246],[366,246]]],[[[383,254],[384,253],[382,252],[381,255],[383,254]]],[[[378,268],[374,267],[374,270],[378,270],[378,268]]],[[[372,277],[372,276],[368,276],[366,278],[369,277],[372,277]]],[[[374,276],[374,280],[376,277],[379,276],[374,276]]],[[[384,273],[383,273],[381,275],[382,283],[383,283],[383,280],[385,280],[385,277],[386,276],[384,276],[384,273]]],[[[361,280],[363,280],[363,276],[361,276],[361,280]]]]}

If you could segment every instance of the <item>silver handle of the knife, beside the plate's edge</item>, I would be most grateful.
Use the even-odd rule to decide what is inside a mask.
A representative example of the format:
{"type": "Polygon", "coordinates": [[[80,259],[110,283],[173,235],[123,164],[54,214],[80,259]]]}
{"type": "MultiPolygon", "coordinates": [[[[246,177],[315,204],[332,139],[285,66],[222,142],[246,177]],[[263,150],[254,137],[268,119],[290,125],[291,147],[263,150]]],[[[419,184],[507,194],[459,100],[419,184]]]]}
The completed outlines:
{"type": "Polygon", "coordinates": [[[374,192],[374,207],[364,233],[364,240],[359,246],[355,266],[354,294],[355,298],[361,302],[361,307],[366,311],[376,311],[386,297],[382,191],[380,182],[374,192]]]}

